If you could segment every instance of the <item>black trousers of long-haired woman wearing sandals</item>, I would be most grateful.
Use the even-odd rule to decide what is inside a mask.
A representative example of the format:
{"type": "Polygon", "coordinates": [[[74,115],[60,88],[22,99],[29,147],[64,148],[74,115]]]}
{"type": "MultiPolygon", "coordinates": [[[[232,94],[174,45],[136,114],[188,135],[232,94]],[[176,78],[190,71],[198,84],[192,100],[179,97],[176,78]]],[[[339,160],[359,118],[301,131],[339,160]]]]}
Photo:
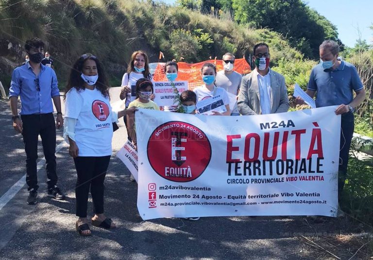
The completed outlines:
{"type": "Polygon", "coordinates": [[[74,158],[75,169],[78,175],[75,187],[76,215],[87,217],[87,204],[89,188],[91,189],[93,211],[103,213],[103,182],[110,156],[78,156],[74,158]]]}

